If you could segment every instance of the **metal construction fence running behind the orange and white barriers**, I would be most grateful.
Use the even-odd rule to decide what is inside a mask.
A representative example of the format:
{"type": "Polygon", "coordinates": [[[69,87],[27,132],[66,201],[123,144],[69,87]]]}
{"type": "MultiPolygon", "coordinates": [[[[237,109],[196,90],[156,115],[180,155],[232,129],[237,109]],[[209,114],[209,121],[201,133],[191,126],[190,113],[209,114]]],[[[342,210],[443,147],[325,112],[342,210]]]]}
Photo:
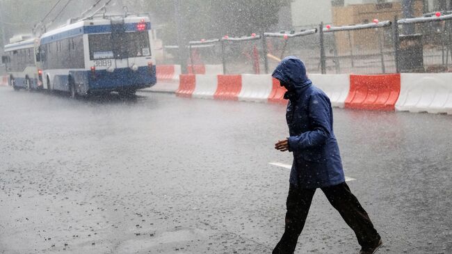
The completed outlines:
{"type": "Polygon", "coordinates": [[[320,24],[300,32],[242,38],[225,36],[190,42],[188,48],[188,65],[223,65],[225,74],[269,73],[288,55],[305,61],[310,73],[450,72],[452,13],[382,22],[375,19],[349,26],[320,24]],[[404,35],[405,26],[413,26],[408,35],[404,35]]]}

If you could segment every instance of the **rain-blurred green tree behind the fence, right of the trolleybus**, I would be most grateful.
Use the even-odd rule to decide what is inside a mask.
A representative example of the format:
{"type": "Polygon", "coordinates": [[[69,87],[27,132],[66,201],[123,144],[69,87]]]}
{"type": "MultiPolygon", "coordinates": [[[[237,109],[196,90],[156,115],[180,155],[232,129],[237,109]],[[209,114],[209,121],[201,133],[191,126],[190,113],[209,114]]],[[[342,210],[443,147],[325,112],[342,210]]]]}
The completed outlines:
{"type": "MultiPolygon", "coordinates": [[[[185,41],[261,33],[277,24],[278,11],[286,4],[287,0],[179,0],[179,33],[185,41]]],[[[148,1],[147,9],[163,24],[166,44],[175,43],[175,1],[148,1]]]]}

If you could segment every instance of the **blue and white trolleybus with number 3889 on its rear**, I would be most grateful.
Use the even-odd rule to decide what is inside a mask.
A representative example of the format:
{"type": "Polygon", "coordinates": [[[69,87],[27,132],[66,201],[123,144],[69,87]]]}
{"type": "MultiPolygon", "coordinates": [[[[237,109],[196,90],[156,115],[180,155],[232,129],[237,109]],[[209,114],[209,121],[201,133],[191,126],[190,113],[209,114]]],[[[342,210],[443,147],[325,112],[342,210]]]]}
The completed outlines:
{"type": "Polygon", "coordinates": [[[40,79],[71,97],[149,88],[156,83],[150,29],[149,17],[97,15],[44,33],[40,79]]]}

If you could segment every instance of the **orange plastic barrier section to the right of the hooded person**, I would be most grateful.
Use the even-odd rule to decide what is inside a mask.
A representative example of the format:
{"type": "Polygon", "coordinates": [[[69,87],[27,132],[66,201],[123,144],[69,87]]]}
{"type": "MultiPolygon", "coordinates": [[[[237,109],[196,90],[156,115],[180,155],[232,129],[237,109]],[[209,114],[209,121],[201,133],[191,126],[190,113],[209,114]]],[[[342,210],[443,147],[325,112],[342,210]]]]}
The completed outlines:
{"type": "Polygon", "coordinates": [[[401,75],[350,75],[346,109],[395,111],[401,92],[401,75]]]}

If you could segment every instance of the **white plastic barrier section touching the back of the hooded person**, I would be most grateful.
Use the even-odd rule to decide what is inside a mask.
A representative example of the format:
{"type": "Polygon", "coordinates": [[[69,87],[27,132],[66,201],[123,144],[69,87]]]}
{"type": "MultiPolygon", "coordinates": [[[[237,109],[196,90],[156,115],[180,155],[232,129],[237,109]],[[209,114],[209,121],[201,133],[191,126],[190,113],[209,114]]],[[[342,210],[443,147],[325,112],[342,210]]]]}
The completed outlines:
{"type": "Polygon", "coordinates": [[[309,79],[330,97],[332,106],[344,108],[350,90],[350,75],[309,74],[309,79]]]}

